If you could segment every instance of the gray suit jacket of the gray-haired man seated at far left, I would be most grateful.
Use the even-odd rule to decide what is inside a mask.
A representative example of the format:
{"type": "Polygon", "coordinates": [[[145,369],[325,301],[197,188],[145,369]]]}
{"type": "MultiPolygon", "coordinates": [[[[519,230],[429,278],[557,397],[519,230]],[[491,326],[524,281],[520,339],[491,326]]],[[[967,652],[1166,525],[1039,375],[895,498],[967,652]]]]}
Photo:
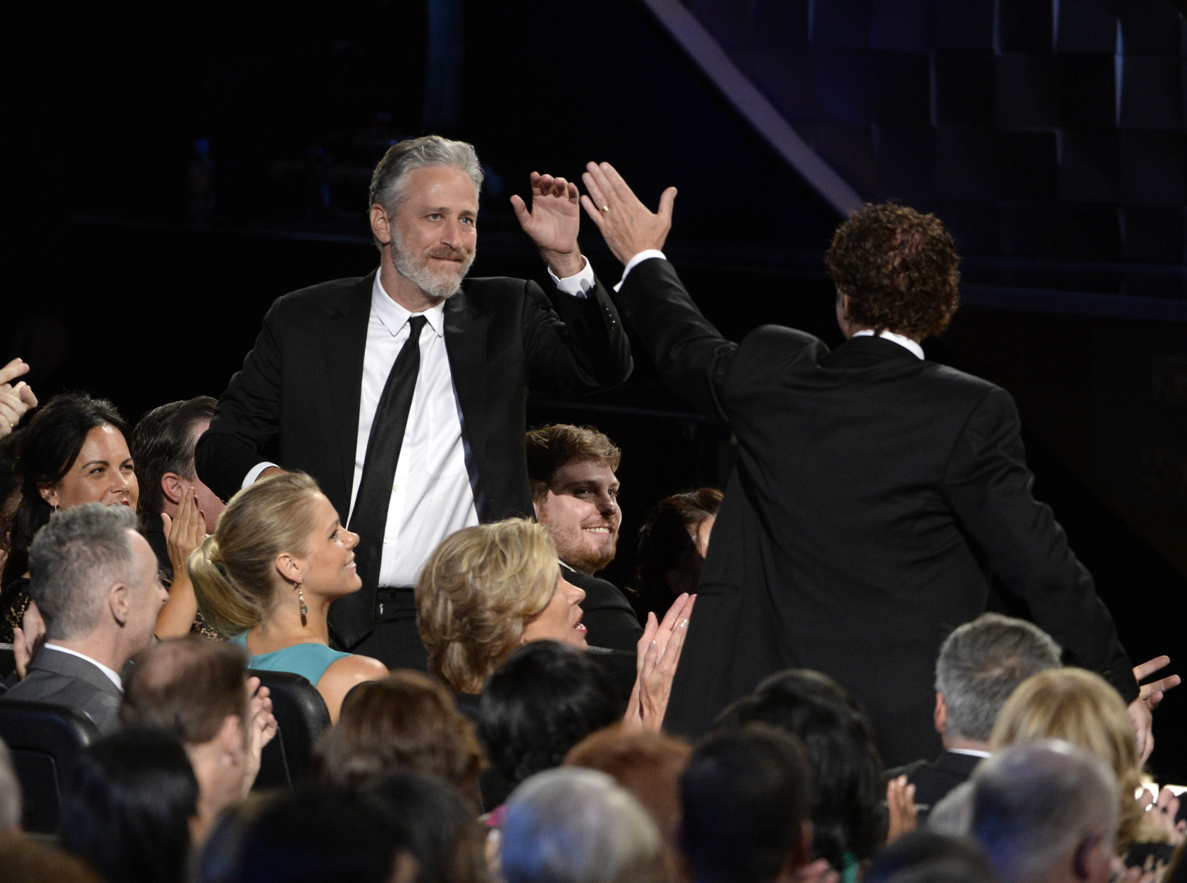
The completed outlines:
{"type": "Polygon", "coordinates": [[[28,674],[15,684],[5,699],[65,705],[90,714],[101,733],[114,732],[120,726],[120,703],[123,693],[99,666],[43,647],[28,663],[28,674]]]}

